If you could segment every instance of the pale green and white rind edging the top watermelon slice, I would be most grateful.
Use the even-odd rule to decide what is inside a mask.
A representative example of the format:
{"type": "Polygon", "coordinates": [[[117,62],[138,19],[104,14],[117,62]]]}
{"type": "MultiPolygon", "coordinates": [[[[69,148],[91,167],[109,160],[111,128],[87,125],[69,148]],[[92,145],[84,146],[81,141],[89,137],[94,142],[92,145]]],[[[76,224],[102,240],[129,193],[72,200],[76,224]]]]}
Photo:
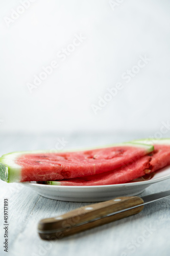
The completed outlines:
{"type": "Polygon", "coordinates": [[[64,153],[64,152],[77,152],[77,151],[88,151],[88,150],[95,150],[98,148],[105,148],[105,147],[116,147],[116,146],[136,146],[136,147],[142,147],[145,148],[146,154],[152,152],[154,150],[153,145],[148,145],[144,143],[136,143],[136,142],[125,142],[125,143],[117,143],[117,144],[111,144],[111,145],[105,145],[105,146],[99,146],[99,147],[92,147],[92,148],[79,148],[74,150],[37,150],[37,151],[21,151],[21,152],[12,152],[3,155],[0,158],[0,177],[1,180],[6,182],[19,182],[21,181],[21,166],[15,163],[15,160],[20,155],[25,154],[38,154],[38,153],[64,153]]]}

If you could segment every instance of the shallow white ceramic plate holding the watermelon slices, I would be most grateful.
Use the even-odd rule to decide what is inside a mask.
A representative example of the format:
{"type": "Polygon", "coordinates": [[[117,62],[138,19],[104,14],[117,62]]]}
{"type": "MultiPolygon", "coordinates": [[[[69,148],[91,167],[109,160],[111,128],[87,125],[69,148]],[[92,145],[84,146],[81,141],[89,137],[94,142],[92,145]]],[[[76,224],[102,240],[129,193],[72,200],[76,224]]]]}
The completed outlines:
{"type": "Polygon", "coordinates": [[[170,167],[156,172],[150,180],[102,186],[55,186],[22,182],[21,184],[34,189],[40,196],[69,202],[100,202],[119,196],[135,196],[150,185],[170,178],[170,167]]]}

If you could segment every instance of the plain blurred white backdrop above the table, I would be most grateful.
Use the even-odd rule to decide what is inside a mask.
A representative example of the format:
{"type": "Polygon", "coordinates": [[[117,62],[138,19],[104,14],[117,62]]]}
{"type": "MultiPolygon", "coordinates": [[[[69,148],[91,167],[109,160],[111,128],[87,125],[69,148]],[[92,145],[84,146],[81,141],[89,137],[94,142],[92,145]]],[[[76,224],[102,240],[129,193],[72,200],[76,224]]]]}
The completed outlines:
{"type": "Polygon", "coordinates": [[[7,26],[21,4],[1,0],[0,132],[160,130],[170,110],[170,2],[122,2],[37,0],[7,26]],[[61,61],[80,33],[86,39],[61,61]],[[140,55],[151,60],[127,83],[122,74],[140,55]],[[30,93],[53,60],[59,67],[30,93]],[[95,115],[91,105],[117,82],[124,88],[95,115]]]}

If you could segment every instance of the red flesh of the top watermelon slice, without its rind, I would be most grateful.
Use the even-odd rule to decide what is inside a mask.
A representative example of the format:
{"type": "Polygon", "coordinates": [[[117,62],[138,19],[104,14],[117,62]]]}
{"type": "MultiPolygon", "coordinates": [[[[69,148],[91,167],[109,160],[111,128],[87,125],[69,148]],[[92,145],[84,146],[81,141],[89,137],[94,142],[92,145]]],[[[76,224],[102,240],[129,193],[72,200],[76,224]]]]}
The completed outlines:
{"type": "Polygon", "coordinates": [[[16,162],[22,166],[21,181],[62,180],[108,172],[141,155],[144,155],[141,148],[112,147],[74,153],[23,155],[16,162]]]}

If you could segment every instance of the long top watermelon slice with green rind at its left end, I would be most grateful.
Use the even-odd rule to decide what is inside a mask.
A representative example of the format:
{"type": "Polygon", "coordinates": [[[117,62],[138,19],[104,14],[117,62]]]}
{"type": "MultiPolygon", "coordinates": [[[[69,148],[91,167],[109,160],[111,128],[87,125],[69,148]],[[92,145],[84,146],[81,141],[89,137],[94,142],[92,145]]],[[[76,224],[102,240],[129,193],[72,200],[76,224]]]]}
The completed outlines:
{"type": "Polygon", "coordinates": [[[6,182],[23,182],[100,174],[136,161],[153,150],[152,145],[135,142],[85,151],[14,152],[0,158],[0,178],[6,182]]]}

